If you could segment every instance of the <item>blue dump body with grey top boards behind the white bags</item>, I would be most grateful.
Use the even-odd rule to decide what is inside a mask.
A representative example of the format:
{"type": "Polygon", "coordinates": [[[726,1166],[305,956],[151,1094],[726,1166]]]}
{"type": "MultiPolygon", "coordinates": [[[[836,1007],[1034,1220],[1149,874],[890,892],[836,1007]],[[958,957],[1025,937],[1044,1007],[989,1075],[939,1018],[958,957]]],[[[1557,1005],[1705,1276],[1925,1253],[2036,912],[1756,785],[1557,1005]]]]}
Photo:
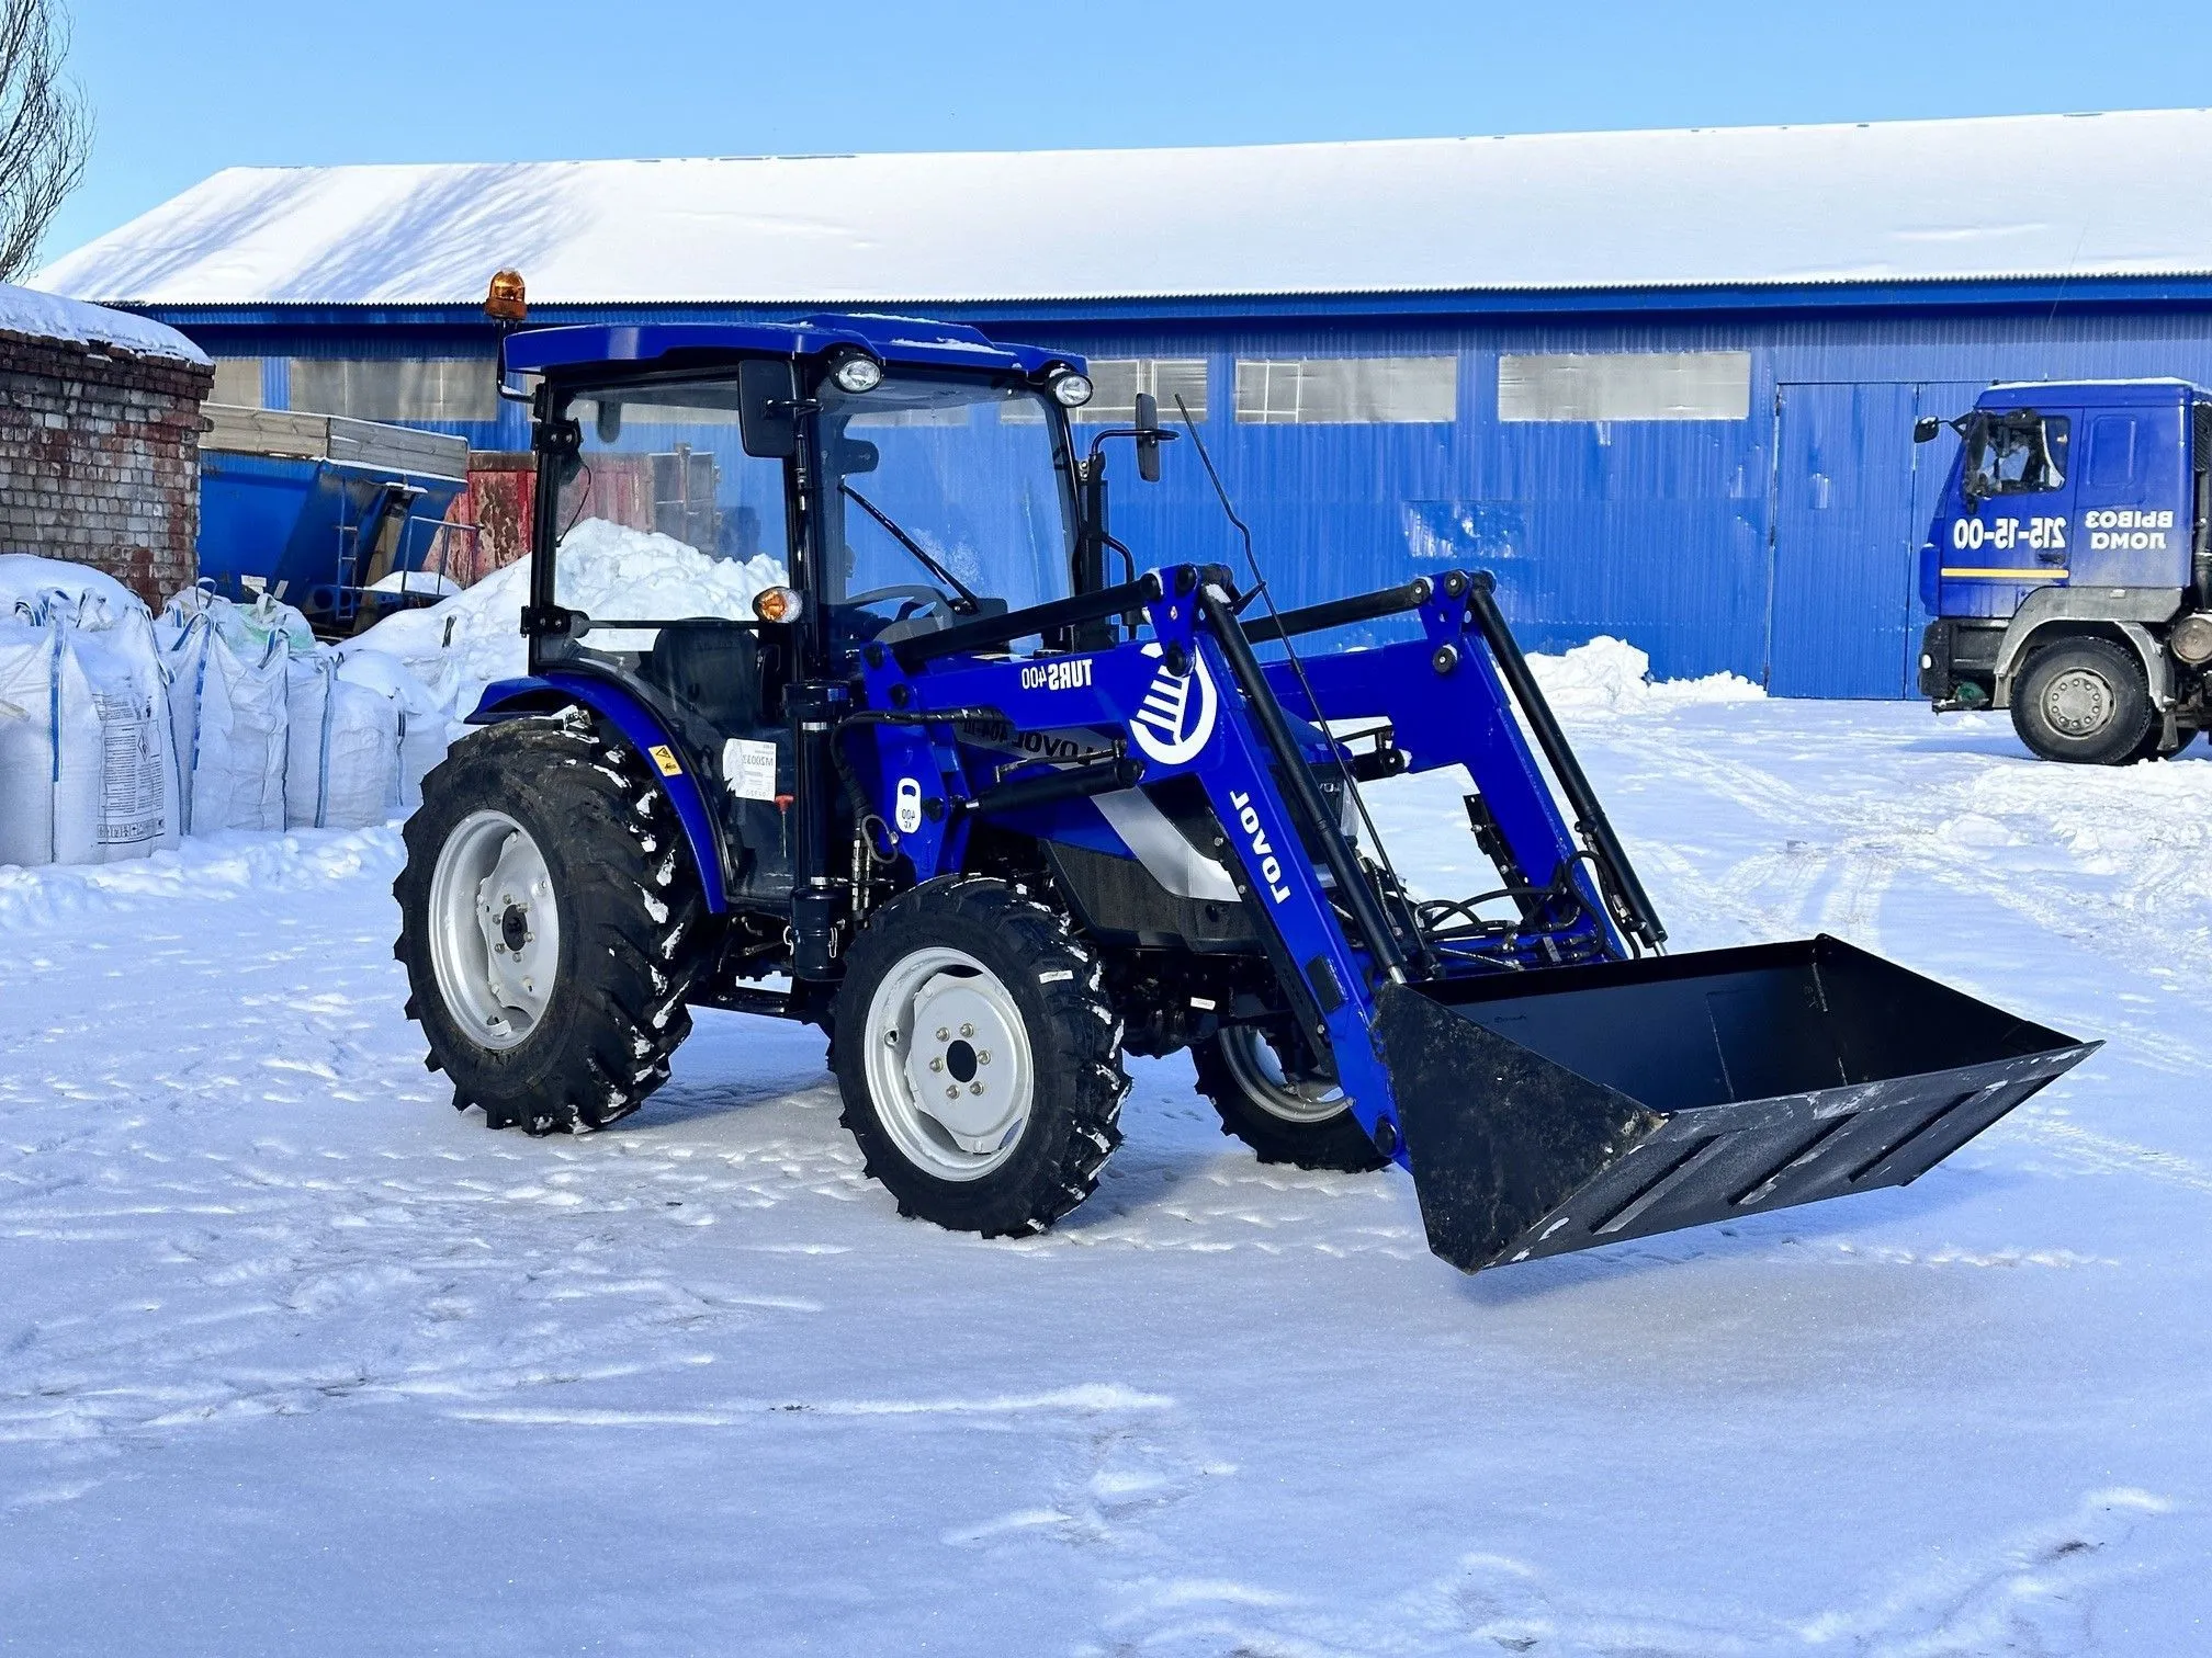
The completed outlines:
{"type": "Polygon", "coordinates": [[[199,573],[226,599],[270,592],[316,632],[347,634],[436,597],[436,579],[407,577],[471,553],[460,539],[476,531],[447,522],[469,480],[465,438],[294,409],[204,413],[199,573]]]}

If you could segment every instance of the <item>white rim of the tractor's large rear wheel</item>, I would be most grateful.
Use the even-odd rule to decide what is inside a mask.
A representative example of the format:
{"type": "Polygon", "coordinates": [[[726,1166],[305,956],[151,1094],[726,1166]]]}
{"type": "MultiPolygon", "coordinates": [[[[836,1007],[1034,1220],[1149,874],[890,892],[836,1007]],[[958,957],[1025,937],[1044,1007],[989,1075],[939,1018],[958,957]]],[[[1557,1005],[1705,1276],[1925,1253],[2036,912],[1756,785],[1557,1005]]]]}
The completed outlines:
{"type": "Polygon", "coordinates": [[[560,970],[560,906],[531,833],[471,811],[429,878],[429,959],[453,1024],[480,1048],[529,1041],[560,970]]]}

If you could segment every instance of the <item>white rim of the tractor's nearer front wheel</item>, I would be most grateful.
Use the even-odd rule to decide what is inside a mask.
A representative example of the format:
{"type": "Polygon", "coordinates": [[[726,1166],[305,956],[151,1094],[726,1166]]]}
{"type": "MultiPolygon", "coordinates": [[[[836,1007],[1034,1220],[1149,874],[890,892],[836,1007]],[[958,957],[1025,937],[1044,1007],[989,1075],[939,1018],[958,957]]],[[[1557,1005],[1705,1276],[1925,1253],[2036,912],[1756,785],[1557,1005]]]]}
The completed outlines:
{"type": "Polygon", "coordinates": [[[898,1152],[980,1180],[1022,1143],[1037,1074],[1013,995],[973,955],[914,951],[867,1001],[867,1092],[898,1152]]]}

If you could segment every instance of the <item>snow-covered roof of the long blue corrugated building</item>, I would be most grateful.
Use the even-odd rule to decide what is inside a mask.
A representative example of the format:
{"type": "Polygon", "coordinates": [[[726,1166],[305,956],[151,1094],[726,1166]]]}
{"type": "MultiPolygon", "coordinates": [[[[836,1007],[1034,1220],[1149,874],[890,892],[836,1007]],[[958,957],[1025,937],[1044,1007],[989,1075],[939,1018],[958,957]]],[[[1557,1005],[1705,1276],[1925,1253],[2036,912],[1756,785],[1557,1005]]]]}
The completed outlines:
{"type": "Polygon", "coordinates": [[[1188,150],[230,168],[58,259],[131,305],[960,301],[2212,272],[2212,111],[1188,150]]]}

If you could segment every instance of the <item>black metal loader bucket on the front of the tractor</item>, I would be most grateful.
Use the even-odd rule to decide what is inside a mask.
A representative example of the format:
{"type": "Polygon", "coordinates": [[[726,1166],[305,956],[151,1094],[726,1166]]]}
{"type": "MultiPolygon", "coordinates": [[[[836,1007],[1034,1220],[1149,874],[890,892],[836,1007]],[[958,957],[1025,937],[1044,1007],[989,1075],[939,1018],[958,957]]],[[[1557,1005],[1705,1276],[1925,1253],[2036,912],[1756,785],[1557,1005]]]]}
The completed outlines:
{"type": "Polygon", "coordinates": [[[1905,1185],[2099,1046],[1827,935],[1391,984],[1376,1030],[1462,1271],[1905,1185]]]}

